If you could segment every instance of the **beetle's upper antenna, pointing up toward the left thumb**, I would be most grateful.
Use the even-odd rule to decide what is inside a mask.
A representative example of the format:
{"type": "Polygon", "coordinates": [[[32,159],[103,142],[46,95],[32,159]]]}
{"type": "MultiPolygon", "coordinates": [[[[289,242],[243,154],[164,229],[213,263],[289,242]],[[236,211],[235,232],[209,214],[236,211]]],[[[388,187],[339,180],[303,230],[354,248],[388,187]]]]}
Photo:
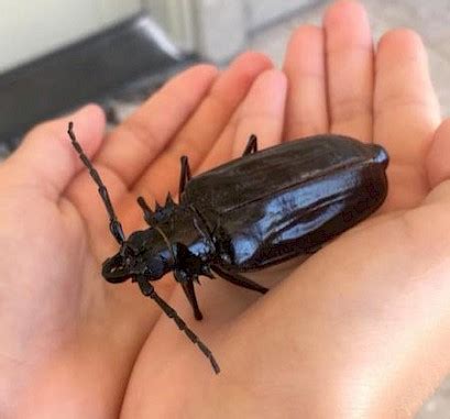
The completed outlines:
{"type": "Polygon", "coordinates": [[[122,224],[119,222],[118,218],[116,217],[114,209],[112,208],[111,200],[109,198],[108,189],[103,185],[100,175],[98,172],[92,166],[92,163],[90,163],[89,157],[85,154],[85,152],[81,148],[81,145],[78,143],[75,134],[74,134],[74,122],[68,123],[68,130],[67,133],[70,137],[72,145],[74,148],[77,151],[79,158],[84,163],[84,165],[88,168],[90,177],[94,179],[94,181],[98,186],[98,192],[100,194],[101,200],[105,203],[105,207],[107,208],[108,216],[109,216],[109,230],[111,231],[112,235],[117,240],[119,244],[122,244],[125,241],[125,235],[123,234],[123,229],[122,224]]]}

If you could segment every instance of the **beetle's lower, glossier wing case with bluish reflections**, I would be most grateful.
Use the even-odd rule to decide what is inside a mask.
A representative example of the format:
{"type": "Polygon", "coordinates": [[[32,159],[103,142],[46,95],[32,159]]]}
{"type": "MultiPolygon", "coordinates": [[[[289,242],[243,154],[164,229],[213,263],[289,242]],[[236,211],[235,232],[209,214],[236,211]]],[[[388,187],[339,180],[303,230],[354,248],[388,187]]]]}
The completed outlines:
{"type": "Polygon", "coordinates": [[[309,253],[369,217],[383,202],[386,178],[378,167],[345,169],[292,187],[229,213],[229,269],[252,271],[309,253]],[[252,222],[245,222],[252,220],[252,222]]]}

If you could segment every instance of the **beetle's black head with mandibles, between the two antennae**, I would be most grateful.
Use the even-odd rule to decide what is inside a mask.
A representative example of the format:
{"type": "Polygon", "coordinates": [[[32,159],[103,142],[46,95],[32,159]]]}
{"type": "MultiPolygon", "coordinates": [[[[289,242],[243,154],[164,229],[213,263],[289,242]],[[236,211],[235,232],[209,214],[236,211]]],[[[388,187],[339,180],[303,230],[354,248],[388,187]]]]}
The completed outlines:
{"type": "Polygon", "coordinates": [[[109,283],[118,284],[143,275],[150,280],[158,279],[169,271],[164,257],[165,243],[158,245],[160,236],[152,230],[136,231],[124,241],[120,251],[103,262],[101,274],[109,283]],[[146,243],[152,243],[151,246],[146,243]]]}

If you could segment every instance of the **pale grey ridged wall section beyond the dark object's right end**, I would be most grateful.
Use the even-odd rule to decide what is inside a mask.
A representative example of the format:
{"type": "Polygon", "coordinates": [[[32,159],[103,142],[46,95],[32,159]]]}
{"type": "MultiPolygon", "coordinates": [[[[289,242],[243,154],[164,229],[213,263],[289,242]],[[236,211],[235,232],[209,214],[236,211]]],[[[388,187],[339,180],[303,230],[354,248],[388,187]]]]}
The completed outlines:
{"type": "Polygon", "coordinates": [[[143,0],[184,51],[226,62],[244,47],[248,33],[318,0],[143,0]]]}

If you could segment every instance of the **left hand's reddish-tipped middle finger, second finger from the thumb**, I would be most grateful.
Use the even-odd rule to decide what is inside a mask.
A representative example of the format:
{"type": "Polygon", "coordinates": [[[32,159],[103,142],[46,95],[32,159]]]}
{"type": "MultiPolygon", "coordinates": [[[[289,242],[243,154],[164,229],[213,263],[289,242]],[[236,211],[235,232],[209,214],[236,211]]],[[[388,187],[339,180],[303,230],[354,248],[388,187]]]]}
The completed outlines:
{"type": "Polygon", "coordinates": [[[262,54],[246,53],[238,57],[212,86],[191,120],[179,132],[169,147],[158,156],[135,186],[138,192],[155,198],[177,191],[179,158],[187,155],[193,172],[211,150],[248,93],[253,80],[272,66],[262,54]],[[161,176],[164,183],[161,183],[161,176]]]}

